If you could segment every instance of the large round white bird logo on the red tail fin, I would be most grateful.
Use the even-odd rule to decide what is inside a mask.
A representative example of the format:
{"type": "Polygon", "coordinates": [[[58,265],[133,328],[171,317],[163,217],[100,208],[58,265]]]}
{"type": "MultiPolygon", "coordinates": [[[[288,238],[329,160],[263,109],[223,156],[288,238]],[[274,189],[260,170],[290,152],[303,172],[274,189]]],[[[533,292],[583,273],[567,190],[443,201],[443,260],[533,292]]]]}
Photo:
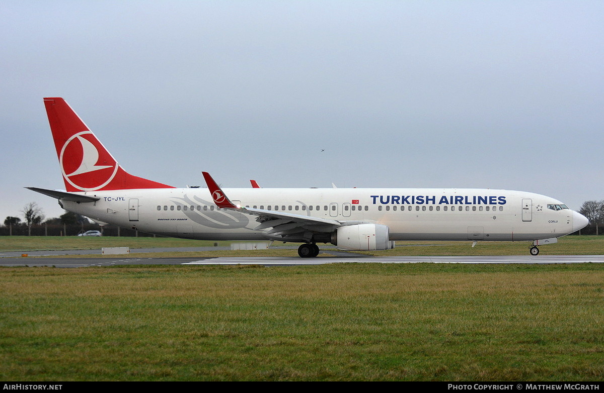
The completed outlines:
{"type": "Polygon", "coordinates": [[[98,190],[115,177],[118,164],[91,131],[71,136],[59,156],[63,177],[83,191],[98,190]]]}

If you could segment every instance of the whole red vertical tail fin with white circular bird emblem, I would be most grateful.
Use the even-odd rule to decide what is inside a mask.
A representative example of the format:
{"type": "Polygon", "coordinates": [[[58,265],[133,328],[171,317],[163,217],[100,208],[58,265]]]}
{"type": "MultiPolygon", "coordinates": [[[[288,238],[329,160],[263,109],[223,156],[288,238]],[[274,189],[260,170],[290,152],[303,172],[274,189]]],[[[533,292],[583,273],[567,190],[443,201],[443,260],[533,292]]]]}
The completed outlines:
{"type": "Polygon", "coordinates": [[[66,190],[173,188],[130,175],[62,98],[45,98],[66,190]]]}

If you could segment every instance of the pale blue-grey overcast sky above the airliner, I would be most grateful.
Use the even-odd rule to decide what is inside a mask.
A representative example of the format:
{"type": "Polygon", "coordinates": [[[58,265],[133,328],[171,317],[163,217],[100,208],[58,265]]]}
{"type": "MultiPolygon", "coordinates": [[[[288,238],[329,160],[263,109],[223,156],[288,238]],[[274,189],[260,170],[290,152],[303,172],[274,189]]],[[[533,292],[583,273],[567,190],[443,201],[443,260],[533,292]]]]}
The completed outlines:
{"type": "Polygon", "coordinates": [[[65,188],[45,96],[172,186],[604,199],[602,1],[3,0],[0,17],[2,221],[64,212],[23,188],[65,188]]]}

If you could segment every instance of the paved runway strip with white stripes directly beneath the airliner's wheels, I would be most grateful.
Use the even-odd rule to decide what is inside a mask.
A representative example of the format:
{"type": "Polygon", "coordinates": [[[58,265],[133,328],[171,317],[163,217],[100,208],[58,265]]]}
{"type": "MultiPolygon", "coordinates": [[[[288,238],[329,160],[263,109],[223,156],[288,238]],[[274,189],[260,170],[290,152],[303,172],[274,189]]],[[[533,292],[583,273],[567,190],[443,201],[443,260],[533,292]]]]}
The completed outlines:
{"type": "Polygon", "coordinates": [[[455,256],[455,257],[218,257],[218,258],[62,258],[2,257],[1,266],[55,266],[81,268],[112,265],[323,265],[326,263],[604,263],[602,255],[567,256],[455,256]]]}

